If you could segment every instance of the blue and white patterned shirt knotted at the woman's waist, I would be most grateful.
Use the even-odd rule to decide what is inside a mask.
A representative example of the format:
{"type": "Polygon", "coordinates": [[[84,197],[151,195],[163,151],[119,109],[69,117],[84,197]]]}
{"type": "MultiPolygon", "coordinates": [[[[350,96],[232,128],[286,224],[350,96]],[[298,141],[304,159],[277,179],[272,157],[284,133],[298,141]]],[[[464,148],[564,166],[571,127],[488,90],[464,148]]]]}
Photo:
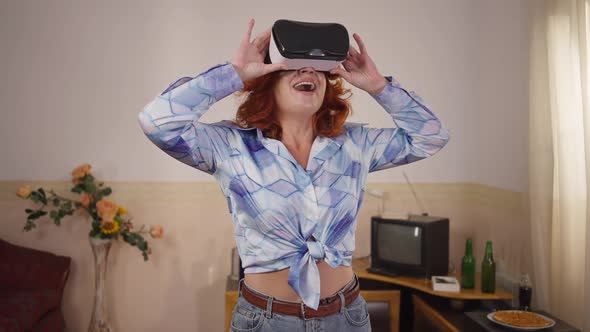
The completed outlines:
{"type": "Polygon", "coordinates": [[[172,83],[139,113],[139,123],[164,152],[215,177],[245,273],[290,268],[289,285],[317,309],[316,261],[351,265],[367,174],[432,156],[449,140],[421,99],[388,79],[375,100],[397,128],[346,123],[340,136],[317,136],[307,169],[258,128],[199,122],[213,103],[243,87],[229,63],[172,83]]]}

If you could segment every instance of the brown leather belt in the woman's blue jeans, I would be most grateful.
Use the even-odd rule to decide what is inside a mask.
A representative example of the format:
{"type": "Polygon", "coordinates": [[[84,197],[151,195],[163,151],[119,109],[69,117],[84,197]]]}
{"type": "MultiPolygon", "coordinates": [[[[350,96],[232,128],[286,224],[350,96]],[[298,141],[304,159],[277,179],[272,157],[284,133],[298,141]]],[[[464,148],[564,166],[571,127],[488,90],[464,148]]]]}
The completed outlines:
{"type": "MultiPolygon", "coordinates": [[[[344,296],[344,306],[348,306],[359,295],[359,282],[358,279],[354,278],[354,285],[348,287],[342,295],[344,296]]],[[[267,303],[269,300],[268,296],[257,294],[256,292],[252,291],[246,284],[242,284],[241,287],[242,296],[244,299],[250,304],[257,306],[260,309],[267,309],[267,303]]],[[[338,294],[333,295],[331,297],[327,297],[325,299],[320,300],[320,304],[317,310],[314,310],[302,303],[296,302],[286,302],[281,300],[272,300],[272,308],[271,312],[289,315],[289,316],[297,316],[302,319],[308,318],[318,318],[318,317],[325,317],[332,314],[335,314],[340,311],[341,303],[340,303],[340,296],[338,294]]]]}

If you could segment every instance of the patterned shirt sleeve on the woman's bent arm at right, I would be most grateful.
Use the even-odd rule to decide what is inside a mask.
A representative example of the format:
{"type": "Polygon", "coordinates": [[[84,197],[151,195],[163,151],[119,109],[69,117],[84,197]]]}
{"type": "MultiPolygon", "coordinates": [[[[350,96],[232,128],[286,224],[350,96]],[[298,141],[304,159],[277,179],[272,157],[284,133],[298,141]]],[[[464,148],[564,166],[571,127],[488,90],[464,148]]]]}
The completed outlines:
{"type": "Polygon", "coordinates": [[[375,100],[397,128],[355,127],[349,132],[369,158],[369,172],[409,164],[434,155],[449,141],[448,130],[413,91],[392,77],[375,100]]]}

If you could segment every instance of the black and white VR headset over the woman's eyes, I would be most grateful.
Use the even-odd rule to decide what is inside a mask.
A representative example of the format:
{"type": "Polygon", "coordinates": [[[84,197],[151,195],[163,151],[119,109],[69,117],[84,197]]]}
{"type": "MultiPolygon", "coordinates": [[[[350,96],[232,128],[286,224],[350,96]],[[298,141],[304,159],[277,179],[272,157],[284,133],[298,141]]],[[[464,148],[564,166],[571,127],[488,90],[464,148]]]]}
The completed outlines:
{"type": "Polygon", "coordinates": [[[289,70],[330,71],[346,59],[348,47],[348,31],[341,24],[278,20],[264,62],[286,63],[289,70]]]}

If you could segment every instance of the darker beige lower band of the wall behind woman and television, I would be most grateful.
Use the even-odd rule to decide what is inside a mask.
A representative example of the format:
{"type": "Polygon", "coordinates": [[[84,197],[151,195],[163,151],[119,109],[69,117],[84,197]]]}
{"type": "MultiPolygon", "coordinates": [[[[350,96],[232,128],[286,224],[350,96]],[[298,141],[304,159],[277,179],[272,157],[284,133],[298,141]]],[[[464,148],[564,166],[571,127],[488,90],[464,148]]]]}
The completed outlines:
{"type": "MultiPolygon", "coordinates": [[[[33,182],[67,192],[66,182],[33,182]]],[[[14,192],[20,182],[0,182],[0,237],[10,242],[72,257],[63,310],[68,331],[84,331],[93,301],[93,261],[88,221],[73,217],[57,228],[50,220],[23,233],[24,209],[31,204],[14,192]]],[[[108,271],[108,297],[117,331],[221,331],[223,292],[234,245],[231,218],[217,184],[109,183],[112,198],[126,206],[136,223],[163,224],[166,237],[153,241],[144,263],[139,252],[119,243],[108,271]],[[172,329],[173,328],[173,329],[172,329]]],[[[375,183],[387,192],[387,210],[419,212],[405,185],[375,183]]],[[[466,237],[474,239],[479,262],[486,240],[494,242],[499,273],[530,271],[525,195],[477,184],[418,184],[416,192],[431,215],[451,221],[451,263],[460,268],[466,237]]],[[[378,200],[367,196],[358,218],[355,257],[370,253],[369,218],[378,200]]]]}

